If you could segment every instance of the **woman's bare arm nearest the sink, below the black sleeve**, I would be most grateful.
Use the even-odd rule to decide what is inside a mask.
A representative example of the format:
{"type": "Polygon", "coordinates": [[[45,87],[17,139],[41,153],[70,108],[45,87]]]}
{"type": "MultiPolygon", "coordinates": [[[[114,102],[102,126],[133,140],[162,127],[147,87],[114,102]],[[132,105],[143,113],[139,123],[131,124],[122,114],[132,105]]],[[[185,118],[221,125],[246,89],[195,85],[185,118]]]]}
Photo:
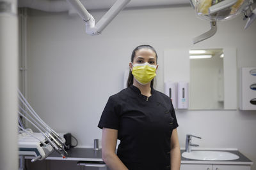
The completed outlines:
{"type": "Polygon", "coordinates": [[[171,170],[180,170],[180,144],[177,129],[173,129],[171,137],[171,170]]]}

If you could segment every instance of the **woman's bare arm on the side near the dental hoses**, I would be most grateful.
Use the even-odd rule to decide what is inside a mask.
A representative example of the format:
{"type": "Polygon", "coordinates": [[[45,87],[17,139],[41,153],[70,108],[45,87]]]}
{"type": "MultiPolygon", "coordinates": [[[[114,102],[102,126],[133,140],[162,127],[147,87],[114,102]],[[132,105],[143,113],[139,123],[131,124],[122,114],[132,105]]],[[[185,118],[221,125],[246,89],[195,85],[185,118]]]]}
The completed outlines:
{"type": "Polygon", "coordinates": [[[102,159],[111,170],[127,170],[115,153],[117,130],[102,129],[102,159]]]}

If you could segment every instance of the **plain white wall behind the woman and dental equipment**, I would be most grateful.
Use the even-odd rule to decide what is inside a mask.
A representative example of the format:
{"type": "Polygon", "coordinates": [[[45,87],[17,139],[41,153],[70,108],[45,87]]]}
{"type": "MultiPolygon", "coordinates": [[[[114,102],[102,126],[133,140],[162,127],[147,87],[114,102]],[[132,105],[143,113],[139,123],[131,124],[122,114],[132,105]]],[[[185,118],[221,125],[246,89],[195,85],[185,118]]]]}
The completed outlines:
{"type": "MultiPolygon", "coordinates": [[[[93,12],[96,20],[105,11],[93,12]]],[[[256,66],[256,22],[244,31],[242,17],[218,23],[218,32],[198,45],[209,29],[190,7],[125,10],[99,36],[88,36],[79,17],[30,11],[28,18],[29,102],[58,132],[71,132],[79,146],[101,138],[97,128],[111,94],[122,89],[133,48],[154,46],[159,55],[157,90],[163,92],[163,52],[168,48],[237,48],[237,65],[256,66]]],[[[179,60],[179,59],[177,59],[179,60]]],[[[175,60],[173,61],[175,62],[175,60]]],[[[179,73],[177,73],[179,74],[179,73]]],[[[256,162],[256,111],[177,111],[180,145],[186,134],[202,147],[238,148],[256,162]]],[[[253,166],[256,170],[256,166],[253,166]]]]}

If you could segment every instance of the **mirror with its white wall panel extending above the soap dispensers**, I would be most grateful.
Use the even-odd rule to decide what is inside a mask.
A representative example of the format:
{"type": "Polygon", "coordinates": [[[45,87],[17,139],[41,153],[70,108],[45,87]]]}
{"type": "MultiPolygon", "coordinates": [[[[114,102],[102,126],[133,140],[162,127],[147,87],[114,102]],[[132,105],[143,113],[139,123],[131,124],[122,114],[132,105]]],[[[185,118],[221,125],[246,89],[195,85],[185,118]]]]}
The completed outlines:
{"type": "Polygon", "coordinates": [[[237,109],[236,48],[166,49],[163,76],[189,82],[189,110],[237,109]]]}

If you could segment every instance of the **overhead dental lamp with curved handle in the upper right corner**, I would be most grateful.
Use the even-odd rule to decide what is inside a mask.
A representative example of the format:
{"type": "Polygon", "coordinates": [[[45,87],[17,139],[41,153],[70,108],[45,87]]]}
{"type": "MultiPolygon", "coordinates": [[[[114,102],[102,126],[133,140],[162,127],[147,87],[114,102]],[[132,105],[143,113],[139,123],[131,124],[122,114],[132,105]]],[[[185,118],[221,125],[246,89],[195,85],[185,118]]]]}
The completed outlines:
{"type": "Polygon", "coordinates": [[[204,41],[217,31],[217,21],[234,18],[243,13],[247,19],[244,29],[247,29],[256,19],[255,0],[189,0],[199,18],[208,20],[211,29],[193,39],[193,43],[204,41]]]}

